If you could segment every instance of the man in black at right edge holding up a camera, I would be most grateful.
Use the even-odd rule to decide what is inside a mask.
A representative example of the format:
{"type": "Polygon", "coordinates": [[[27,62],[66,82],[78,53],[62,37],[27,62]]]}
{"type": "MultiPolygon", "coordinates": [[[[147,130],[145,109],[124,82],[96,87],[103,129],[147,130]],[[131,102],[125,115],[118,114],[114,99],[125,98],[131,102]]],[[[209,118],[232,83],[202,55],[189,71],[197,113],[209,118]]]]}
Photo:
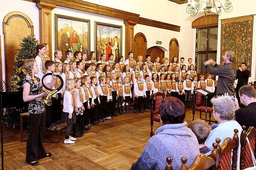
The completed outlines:
{"type": "Polygon", "coordinates": [[[237,98],[234,98],[234,105],[236,108],[236,121],[241,125],[246,126],[246,131],[250,126],[256,126],[256,90],[250,86],[245,85],[239,89],[240,101],[245,108],[239,108],[237,98]]]}

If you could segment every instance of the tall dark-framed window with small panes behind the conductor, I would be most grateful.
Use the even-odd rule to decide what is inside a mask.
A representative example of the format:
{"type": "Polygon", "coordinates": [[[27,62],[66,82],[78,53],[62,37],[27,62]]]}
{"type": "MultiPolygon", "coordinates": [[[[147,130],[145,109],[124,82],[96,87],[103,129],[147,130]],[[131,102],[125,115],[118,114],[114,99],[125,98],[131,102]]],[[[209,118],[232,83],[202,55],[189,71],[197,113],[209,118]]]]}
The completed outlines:
{"type": "Polygon", "coordinates": [[[198,28],[196,35],[196,71],[207,73],[203,63],[210,58],[217,59],[218,27],[198,28]]]}

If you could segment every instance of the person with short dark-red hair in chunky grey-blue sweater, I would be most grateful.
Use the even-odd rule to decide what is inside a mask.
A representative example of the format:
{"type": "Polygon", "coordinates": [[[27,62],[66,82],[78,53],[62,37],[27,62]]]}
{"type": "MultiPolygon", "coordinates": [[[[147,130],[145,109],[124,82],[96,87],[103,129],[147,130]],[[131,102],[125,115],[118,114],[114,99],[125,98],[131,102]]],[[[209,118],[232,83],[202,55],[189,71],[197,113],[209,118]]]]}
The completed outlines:
{"type": "Polygon", "coordinates": [[[186,126],[185,105],[175,97],[165,98],[159,106],[162,126],[156,130],[137,162],[131,169],[156,169],[166,167],[166,157],[173,158],[173,169],[180,169],[181,156],[188,158],[189,166],[200,153],[195,134],[186,126]]]}

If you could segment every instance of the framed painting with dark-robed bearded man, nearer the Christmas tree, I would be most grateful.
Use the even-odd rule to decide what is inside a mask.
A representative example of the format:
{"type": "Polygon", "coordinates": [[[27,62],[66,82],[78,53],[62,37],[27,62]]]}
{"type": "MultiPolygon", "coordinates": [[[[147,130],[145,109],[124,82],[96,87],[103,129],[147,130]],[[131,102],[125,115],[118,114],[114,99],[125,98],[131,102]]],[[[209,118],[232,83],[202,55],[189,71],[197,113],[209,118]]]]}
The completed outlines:
{"type": "MultiPolygon", "coordinates": [[[[65,61],[67,50],[90,52],[90,20],[55,14],[55,50],[62,52],[65,61]]],[[[74,56],[73,56],[74,57],[74,56]]]]}

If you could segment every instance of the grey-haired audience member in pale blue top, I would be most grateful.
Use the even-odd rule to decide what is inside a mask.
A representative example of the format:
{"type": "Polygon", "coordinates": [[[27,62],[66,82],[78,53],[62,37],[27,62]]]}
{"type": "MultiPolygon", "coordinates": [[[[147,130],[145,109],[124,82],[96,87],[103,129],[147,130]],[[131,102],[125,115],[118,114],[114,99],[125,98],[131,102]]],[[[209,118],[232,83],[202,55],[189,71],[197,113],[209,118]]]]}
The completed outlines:
{"type": "MultiPolygon", "coordinates": [[[[218,96],[216,98],[212,98],[211,102],[213,104],[213,117],[219,124],[210,132],[204,145],[208,146],[212,150],[212,143],[215,142],[216,138],[221,139],[219,144],[222,145],[222,142],[226,137],[230,137],[231,139],[233,138],[234,129],[238,129],[238,136],[240,136],[242,127],[236,120],[234,120],[234,112],[236,109],[234,107],[234,102],[230,97],[218,96]]],[[[240,151],[240,145],[238,151],[240,151]]]]}

